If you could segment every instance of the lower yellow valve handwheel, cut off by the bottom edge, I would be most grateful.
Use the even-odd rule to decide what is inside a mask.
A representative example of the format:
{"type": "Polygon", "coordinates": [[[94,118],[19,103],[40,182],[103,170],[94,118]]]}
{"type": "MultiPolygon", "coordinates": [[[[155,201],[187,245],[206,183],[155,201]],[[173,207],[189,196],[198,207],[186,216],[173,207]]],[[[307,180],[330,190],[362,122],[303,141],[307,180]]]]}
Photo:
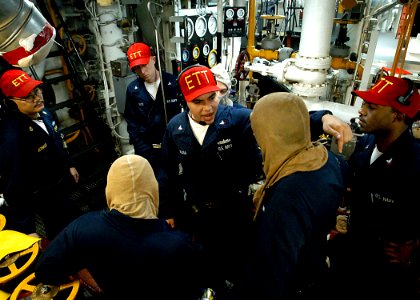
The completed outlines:
{"type": "Polygon", "coordinates": [[[15,288],[10,300],[20,299],[19,295],[24,292],[31,292],[31,299],[53,299],[58,293],[68,293],[67,300],[76,299],[77,292],[79,291],[80,281],[78,279],[62,284],[60,286],[45,285],[42,283],[36,284],[35,273],[30,274],[26,277],[19,285],[15,288]]]}

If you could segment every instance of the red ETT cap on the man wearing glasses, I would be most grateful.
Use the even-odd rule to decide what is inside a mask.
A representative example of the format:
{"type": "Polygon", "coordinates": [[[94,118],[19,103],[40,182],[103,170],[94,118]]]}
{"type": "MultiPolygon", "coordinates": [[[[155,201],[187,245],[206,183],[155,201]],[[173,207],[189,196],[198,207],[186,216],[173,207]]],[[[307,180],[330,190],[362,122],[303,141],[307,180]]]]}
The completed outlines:
{"type": "Polygon", "coordinates": [[[21,70],[8,70],[0,78],[0,89],[6,97],[25,98],[42,81],[32,79],[21,70]]]}

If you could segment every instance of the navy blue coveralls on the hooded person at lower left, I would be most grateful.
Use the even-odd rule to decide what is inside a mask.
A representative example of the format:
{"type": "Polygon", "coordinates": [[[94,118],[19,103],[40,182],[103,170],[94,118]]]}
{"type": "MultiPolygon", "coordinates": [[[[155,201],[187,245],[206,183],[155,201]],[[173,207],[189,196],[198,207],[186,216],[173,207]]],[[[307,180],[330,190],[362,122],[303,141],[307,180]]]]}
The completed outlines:
{"type": "Polygon", "coordinates": [[[40,282],[60,285],[86,268],[101,299],[185,299],[200,295],[201,247],[165,220],[137,219],[117,210],[86,213],[41,254],[40,282]]]}

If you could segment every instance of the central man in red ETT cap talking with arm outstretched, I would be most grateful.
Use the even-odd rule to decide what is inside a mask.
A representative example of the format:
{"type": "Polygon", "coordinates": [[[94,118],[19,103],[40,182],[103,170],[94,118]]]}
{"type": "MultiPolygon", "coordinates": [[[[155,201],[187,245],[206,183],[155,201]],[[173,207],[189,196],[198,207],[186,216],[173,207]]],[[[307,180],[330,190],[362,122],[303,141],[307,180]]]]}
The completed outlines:
{"type": "MultiPolygon", "coordinates": [[[[188,111],[168,123],[162,144],[171,211],[175,226],[193,233],[207,251],[203,268],[220,298],[235,283],[249,247],[254,207],[248,186],[261,179],[261,152],[250,126],[251,110],[219,105],[220,89],[209,68],[185,69],[178,86],[188,111]]],[[[324,115],[314,115],[318,125],[324,115]]],[[[344,122],[334,124],[341,139],[351,137],[344,122]]],[[[332,127],[324,124],[338,134],[332,127]]]]}

